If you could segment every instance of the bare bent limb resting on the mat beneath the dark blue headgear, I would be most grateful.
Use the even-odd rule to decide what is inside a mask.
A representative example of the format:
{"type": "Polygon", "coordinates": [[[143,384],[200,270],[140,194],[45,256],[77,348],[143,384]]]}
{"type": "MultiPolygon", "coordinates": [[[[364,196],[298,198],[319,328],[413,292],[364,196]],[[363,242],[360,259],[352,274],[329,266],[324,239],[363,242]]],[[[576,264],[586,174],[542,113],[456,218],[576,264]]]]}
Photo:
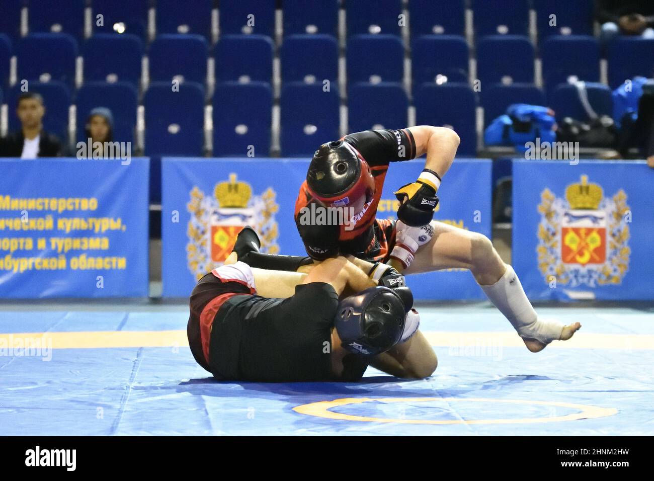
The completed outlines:
{"type": "Polygon", "coordinates": [[[373,357],[370,365],[398,378],[422,379],[434,373],[438,359],[432,346],[418,330],[406,342],[373,357]]]}

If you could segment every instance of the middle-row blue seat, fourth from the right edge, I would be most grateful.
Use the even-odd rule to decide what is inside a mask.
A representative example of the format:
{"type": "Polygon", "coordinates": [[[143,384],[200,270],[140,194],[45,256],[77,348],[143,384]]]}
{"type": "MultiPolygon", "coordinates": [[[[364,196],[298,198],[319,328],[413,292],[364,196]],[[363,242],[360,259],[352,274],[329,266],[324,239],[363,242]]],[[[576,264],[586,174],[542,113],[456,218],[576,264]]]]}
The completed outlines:
{"type": "Polygon", "coordinates": [[[468,44],[456,35],[423,35],[411,46],[414,84],[434,82],[438,75],[448,82],[468,82],[468,44]]]}

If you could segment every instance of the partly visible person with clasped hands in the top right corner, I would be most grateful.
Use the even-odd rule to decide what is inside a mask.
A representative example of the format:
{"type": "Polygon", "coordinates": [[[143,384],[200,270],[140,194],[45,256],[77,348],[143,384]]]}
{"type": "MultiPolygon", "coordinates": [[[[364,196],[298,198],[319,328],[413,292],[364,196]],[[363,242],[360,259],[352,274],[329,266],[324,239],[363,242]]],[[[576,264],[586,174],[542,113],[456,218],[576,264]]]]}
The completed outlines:
{"type": "Polygon", "coordinates": [[[595,16],[606,44],[617,35],[654,39],[654,2],[651,0],[596,0],[595,16]]]}

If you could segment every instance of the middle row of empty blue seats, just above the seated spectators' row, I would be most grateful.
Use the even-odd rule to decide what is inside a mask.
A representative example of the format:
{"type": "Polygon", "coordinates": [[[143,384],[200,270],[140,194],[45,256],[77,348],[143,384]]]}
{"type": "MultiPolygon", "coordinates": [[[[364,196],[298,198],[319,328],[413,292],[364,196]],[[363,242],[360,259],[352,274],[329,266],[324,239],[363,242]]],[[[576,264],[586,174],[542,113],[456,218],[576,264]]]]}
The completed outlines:
{"type": "MultiPolygon", "coordinates": [[[[199,35],[160,35],[147,52],[149,78],[174,78],[204,84],[207,80],[207,42],[199,35]]],[[[0,35],[0,85],[9,82],[10,56],[17,57],[17,77],[60,80],[75,86],[78,48],[65,33],[35,33],[10,51],[0,35]]],[[[570,77],[600,80],[600,46],[584,35],[551,37],[540,49],[545,88],[570,77]]],[[[126,81],[141,85],[144,49],[135,35],[98,34],[82,47],[84,81],[126,81]]],[[[271,82],[273,44],[265,35],[225,35],[211,52],[217,81],[271,82]],[[238,54],[235,54],[238,52],[238,54]]],[[[330,35],[292,35],[279,52],[281,79],[334,82],[338,78],[339,50],[330,35]]],[[[394,35],[355,35],[347,45],[348,82],[402,82],[405,51],[394,35]]],[[[470,51],[462,37],[424,35],[411,44],[414,83],[467,82],[470,51]]],[[[491,35],[476,48],[476,79],[482,84],[534,82],[534,47],[520,35],[491,35]]],[[[654,39],[623,37],[608,48],[608,83],[612,88],[636,75],[651,77],[654,39]]]]}

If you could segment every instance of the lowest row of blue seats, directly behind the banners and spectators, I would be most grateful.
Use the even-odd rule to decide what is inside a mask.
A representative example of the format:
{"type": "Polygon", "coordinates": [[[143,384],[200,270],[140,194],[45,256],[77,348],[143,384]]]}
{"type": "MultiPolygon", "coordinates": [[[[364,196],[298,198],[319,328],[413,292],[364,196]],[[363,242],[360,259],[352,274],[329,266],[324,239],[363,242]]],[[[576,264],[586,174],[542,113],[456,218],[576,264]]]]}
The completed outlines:
{"type": "MultiPolygon", "coordinates": [[[[598,115],[611,115],[611,91],[602,84],[588,84],[588,99],[598,115]]],[[[61,82],[34,84],[46,104],[44,128],[67,138],[71,96],[61,82]]],[[[13,114],[20,96],[16,86],[7,92],[9,130],[20,128],[13,114]]],[[[340,99],[337,88],[324,92],[320,84],[288,82],[281,90],[279,143],[282,156],[307,156],[316,146],[337,139],[344,131],[369,128],[400,128],[409,125],[409,99],[400,84],[358,83],[349,88],[347,129],[341,126],[340,99]]],[[[0,91],[0,102],[2,92],[0,91]]],[[[532,84],[497,84],[479,94],[468,84],[425,83],[415,90],[415,124],[450,126],[458,132],[460,155],[474,155],[477,150],[477,106],[489,124],[502,115],[511,103],[549,105],[557,119],[572,116],[587,120],[576,88],[564,84],[548,94],[532,84]]],[[[139,105],[136,88],[126,82],[88,82],[77,92],[76,137],[84,140],[86,116],[98,106],[109,107],[114,116],[114,141],[133,141],[139,105]]],[[[167,82],[154,82],[143,98],[145,110],[145,154],[204,154],[205,90],[196,82],[184,82],[173,92],[167,82]]],[[[213,154],[246,156],[249,146],[256,155],[269,155],[271,149],[273,94],[266,82],[222,82],[213,96],[213,154]]]]}

